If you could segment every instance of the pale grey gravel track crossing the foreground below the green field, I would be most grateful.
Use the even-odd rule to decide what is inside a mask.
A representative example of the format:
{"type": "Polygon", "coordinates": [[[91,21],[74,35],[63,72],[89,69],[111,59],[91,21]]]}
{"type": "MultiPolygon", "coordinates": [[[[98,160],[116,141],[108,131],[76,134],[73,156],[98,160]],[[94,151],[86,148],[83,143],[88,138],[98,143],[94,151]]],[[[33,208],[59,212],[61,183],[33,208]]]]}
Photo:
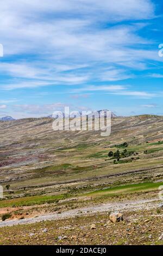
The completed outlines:
{"type": "Polygon", "coordinates": [[[13,221],[4,221],[0,222],[0,228],[18,224],[29,224],[41,221],[52,221],[52,220],[59,220],[62,218],[73,218],[76,216],[85,216],[85,215],[92,215],[98,212],[105,212],[105,211],[127,211],[127,210],[149,210],[158,207],[159,199],[146,199],[146,200],[137,200],[137,201],[129,201],[123,203],[107,203],[101,204],[96,206],[89,206],[87,208],[78,208],[71,211],[61,212],[61,214],[48,214],[42,215],[36,218],[26,218],[23,220],[13,220],[13,221]]]}

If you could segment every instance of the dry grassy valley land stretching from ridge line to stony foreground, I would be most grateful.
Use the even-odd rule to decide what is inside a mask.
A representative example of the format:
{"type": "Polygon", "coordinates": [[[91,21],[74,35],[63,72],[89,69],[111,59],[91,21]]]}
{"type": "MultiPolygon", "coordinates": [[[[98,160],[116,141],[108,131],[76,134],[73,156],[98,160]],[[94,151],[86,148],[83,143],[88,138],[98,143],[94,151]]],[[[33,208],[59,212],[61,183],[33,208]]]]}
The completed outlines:
{"type": "Polygon", "coordinates": [[[0,243],[14,244],[20,238],[13,234],[20,233],[24,236],[20,244],[27,240],[33,244],[35,236],[43,244],[96,244],[102,237],[102,244],[135,244],[138,240],[140,244],[161,244],[161,224],[160,230],[154,227],[163,216],[158,196],[163,185],[163,118],[113,117],[109,137],[101,137],[99,131],[53,131],[52,121],[0,121],[0,185],[4,188],[4,198],[0,200],[0,243]],[[114,211],[123,213],[124,223],[108,222],[114,211]],[[146,219],[150,220],[146,228],[152,230],[153,226],[151,239],[150,231],[146,231],[150,234],[144,239],[144,235],[133,231],[133,242],[125,234],[124,241],[122,234],[115,239],[110,235],[110,240],[105,237],[107,227],[110,234],[123,230],[122,227],[128,229],[128,225],[136,230],[146,219]],[[84,224],[82,230],[77,220],[84,224]],[[101,235],[92,240],[92,230],[86,239],[78,240],[79,233],[85,237],[94,222],[97,235],[101,235]],[[52,240],[52,233],[53,237],[62,236],[55,230],[56,225],[59,229],[71,226],[62,231],[66,239],[52,240]],[[43,233],[43,241],[38,230],[49,230],[50,226],[55,231],[50,228],[43,233]],[[3,232],[7,229],[13,238],[4,240],[3,232]],[[68,240],[73,236],[76,239],[68,240]]]}

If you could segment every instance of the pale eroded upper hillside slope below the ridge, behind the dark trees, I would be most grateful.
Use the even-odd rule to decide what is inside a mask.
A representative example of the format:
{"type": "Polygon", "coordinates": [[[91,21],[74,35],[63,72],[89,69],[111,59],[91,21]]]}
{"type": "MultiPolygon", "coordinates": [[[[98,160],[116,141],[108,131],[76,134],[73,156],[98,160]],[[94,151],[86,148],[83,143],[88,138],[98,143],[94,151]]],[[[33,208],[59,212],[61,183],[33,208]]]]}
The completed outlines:
{"type": "MultiPolygon", "coordinates": [[[[53,131],[52,121],[51,118],[30,118],[0,123],[2,184],[28,179],[37,179],[42,184],[46,176],[47,182],[49,177],[54,182],[88,178],[108,173],[106,168],[110,173],[116,173],[119,165],[113,165],[112,161],[100,166],[107,159],[108,152],[117,149],[115,145],[127,142],[130,149],[137,147],[135,150],[139,151],[140,148],[140,154],[143,154],[147,142],[163,140],[163,117],[155,115],[112,118],[109,137],[101,137],[99,131],[53,131]],[[92,165],[96,164],[101,168],[93,171],[92,165]]],[[[159,149],[155,152],[153,160],[161,157],[159,149]]],[[[140,159],[148,159],[148,156],[143,155],[140,159]]],[[[135,169],[140,168],[141,160],[134,163],[135,169]]],[[[121,164],[121,169],[130,166],[121,164]]]]}

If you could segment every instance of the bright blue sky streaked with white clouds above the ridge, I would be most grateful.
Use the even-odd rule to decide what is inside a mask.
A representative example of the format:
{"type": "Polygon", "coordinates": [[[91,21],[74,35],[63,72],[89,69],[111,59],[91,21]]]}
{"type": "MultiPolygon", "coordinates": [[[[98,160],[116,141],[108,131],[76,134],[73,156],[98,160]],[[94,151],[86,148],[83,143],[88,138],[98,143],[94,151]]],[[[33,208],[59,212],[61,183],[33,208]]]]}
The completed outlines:
{"type": "Polygon", "coordinates": [[[0,116],[109,109],[163,114],[163,3],[5,0],[0,116]]]}

